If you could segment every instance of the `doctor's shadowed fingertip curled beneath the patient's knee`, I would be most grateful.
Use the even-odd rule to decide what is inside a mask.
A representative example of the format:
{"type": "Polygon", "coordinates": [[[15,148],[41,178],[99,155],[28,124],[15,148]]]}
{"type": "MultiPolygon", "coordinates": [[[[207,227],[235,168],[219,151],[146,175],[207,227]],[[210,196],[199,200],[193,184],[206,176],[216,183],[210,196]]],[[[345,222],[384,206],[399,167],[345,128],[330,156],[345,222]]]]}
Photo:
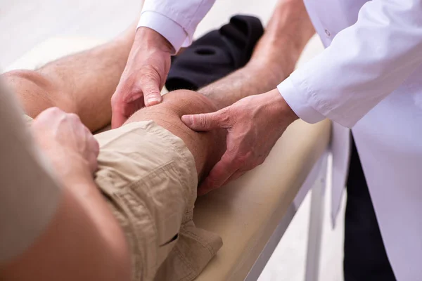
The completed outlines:
{"type": "Polygon", "coordinates": [[[200,184],[198,195],[204,195],[212,190],[221,188],[227,179],[238,170],[238,166],[233,163],[231,156],[226,152],[222,159],[212,168],[203,183],[200,184]]]}

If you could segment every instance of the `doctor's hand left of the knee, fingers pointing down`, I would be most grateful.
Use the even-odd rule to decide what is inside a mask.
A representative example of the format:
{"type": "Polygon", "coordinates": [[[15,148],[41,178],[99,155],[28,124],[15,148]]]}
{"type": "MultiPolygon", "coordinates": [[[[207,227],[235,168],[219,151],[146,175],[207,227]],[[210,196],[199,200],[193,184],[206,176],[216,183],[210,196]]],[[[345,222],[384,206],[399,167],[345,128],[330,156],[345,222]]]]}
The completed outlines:
{"type": "Polygon", "coordinates": [[[161,103],[160,91],[170,70],[173,47],[161,34],[139,27],[117,89],[111,98],[112,127],[144,106],[161,103]]]}

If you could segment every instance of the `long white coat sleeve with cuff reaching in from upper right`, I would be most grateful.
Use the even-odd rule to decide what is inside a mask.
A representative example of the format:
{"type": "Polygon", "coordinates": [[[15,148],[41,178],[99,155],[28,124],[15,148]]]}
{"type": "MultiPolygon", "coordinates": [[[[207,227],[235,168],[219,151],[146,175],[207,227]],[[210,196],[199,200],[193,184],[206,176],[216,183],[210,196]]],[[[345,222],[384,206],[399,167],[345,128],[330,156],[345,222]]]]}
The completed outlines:
{"type": "Polygon", "coordinates": [[[373,0],[278,89],[305,122],[352,127],[422,64],[422,0],[373,0]]]}

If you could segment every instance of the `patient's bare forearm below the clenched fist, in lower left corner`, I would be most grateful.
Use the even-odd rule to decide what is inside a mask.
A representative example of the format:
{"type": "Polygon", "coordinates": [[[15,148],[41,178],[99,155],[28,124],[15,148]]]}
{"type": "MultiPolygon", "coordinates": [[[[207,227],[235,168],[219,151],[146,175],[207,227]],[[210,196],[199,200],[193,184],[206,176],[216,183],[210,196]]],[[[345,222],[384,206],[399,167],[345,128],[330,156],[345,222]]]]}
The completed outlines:
{"type": "Polygon", "coordinates": [[[92,179],[66,185],[60,205],[32,246],[0,270],[1,280],[130,280],[120,226],[92,179]]]}

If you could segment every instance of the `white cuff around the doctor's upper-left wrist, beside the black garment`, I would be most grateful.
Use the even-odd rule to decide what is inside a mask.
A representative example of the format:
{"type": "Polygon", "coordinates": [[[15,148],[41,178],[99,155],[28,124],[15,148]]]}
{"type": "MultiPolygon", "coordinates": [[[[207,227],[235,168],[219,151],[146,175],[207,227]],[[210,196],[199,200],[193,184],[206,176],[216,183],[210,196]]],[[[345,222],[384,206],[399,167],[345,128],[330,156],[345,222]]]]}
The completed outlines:
{"type": "Polygon", "coordinates": [[[186,41],[188,34],[183,27],[165,15],[154,11],[144,11],[139,19],[138,27],[148,27],[165,37],[174,48],[174,54],[179,51],[186,41]]]}

